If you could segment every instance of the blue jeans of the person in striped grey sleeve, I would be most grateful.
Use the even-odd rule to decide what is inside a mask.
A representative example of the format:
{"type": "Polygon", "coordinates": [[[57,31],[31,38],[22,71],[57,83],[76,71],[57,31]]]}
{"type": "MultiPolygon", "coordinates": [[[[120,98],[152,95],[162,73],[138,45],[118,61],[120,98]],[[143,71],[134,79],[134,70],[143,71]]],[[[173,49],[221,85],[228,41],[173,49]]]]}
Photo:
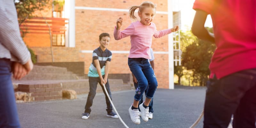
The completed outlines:
{"type": "Polygon", "coordinates": [[[19,116],[12,86],[12,62],[0,59],[0,127],[20,128],[19,116]]]}

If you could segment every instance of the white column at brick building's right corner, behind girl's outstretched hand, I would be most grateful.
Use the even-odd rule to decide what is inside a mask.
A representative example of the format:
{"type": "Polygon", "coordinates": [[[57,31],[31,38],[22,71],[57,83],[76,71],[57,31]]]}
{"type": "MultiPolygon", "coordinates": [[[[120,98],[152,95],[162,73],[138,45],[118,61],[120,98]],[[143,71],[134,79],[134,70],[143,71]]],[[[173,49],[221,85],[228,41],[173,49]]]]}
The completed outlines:
{"type": "MultiPolygon", "coordinates": [[[[168,28],[173,27],[172,23],[172,0],[168,0],[168,28]]],[[[169,89],[174,89],[174,65],[173,65],[173,37],[172,34],[168,35],[168,52],[169,52],[169,89]]]]}

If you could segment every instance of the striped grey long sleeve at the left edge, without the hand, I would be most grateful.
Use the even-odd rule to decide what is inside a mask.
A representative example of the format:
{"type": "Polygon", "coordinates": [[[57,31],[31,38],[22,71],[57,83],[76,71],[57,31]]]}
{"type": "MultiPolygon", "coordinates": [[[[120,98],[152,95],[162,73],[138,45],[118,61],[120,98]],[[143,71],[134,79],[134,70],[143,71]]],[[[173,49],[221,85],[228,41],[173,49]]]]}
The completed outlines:
{"type": "Polygon", "coordinates": [[[0,0],[0,58],[28,62],[30,52],[20,36],[17,12],[12,0],[0,0]]]}

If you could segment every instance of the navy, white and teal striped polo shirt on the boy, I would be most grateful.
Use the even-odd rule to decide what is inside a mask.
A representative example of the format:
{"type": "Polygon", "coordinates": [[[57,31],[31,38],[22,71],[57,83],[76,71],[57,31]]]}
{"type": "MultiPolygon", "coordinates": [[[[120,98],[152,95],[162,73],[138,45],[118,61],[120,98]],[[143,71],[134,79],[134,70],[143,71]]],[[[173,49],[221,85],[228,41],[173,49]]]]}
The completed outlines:
{"type": "Polygon", "coordinates": [[[100,62],[100,68],[101,68],[101,75],[105,75],[105,66],[106,61],[111,61],[112,58],[112,52],[110,52],[108,49],[106,49],[104,52],[101,50],[100,47],[93,50],[92,52],[92,63],[89,67],[88,76],[90,77],[99,77],[99,74],[97,72],[97,68],[95,66],[94,60],[99,60],[100,62]]]}

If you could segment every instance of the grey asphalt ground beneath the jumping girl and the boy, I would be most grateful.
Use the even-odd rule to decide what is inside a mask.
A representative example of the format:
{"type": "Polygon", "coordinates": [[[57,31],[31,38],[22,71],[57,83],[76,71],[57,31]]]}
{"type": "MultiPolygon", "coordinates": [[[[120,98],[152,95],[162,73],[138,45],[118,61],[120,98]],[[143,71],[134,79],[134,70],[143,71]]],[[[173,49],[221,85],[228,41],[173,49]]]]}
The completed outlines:
{"type": "MultiPolygon", "coordinates": [[[[205,97],[205,88],[157,89],[154,96],[153,119],[132,123],[128,108],[133,102],[134,90],[112,92],[113,103],[130,128],[188,128],[200,115],[205,97]]],[[[81,119],[86,95],[76,100],[52,100],[18,103],[22,128],[124,128],[119,119],[107,117],[105,96],[97,93],[89,119],[81,119]]],[[[201,120],[196,128],[203,126],[201,120]]]]}

